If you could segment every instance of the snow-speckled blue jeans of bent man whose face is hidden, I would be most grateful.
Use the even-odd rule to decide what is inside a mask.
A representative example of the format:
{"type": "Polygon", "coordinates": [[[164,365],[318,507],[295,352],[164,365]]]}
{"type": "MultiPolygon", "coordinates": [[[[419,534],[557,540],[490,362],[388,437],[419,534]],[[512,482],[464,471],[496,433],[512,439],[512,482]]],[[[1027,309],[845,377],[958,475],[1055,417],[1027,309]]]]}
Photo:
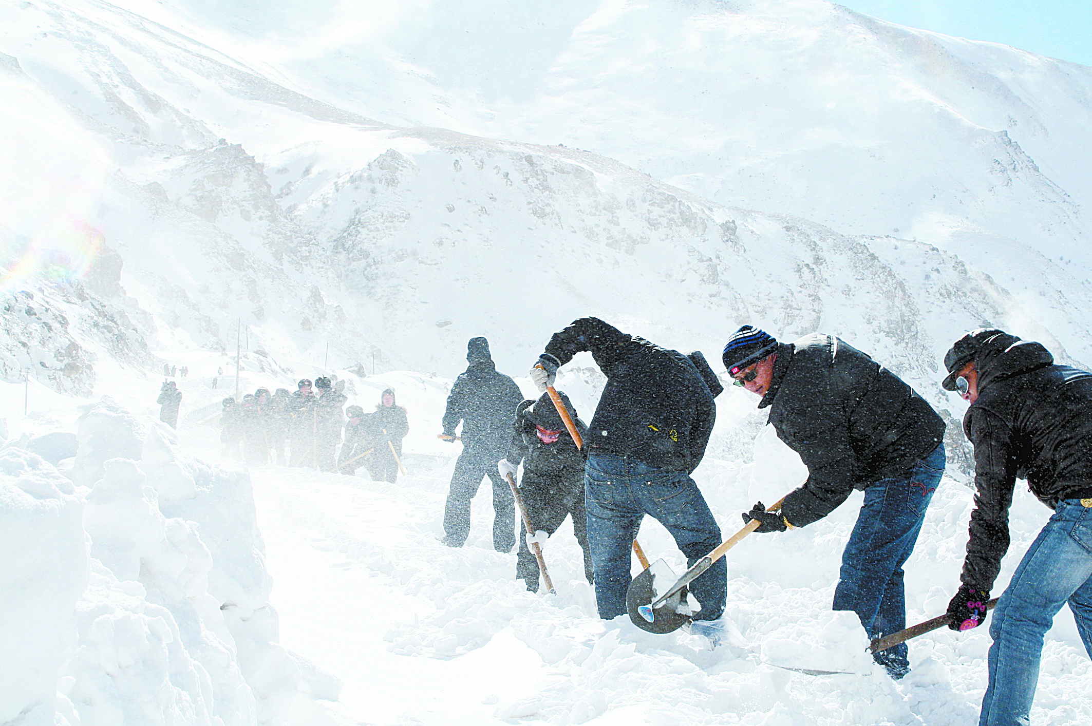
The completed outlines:
{"type": "MultiPolygon", "coordinates": [[[[584,488],[601,618],[626,612],[629,551],[645,514],[672,533],[688,567],[721,544],[721,528],[687,474],[664,472],[628,456],[593,453],[584,467],[584,488]]],[[[691,583],[690,591],[701,603],[696,620],[715,620],[724,612],[727,575],[721,558],[691,583]]]]}

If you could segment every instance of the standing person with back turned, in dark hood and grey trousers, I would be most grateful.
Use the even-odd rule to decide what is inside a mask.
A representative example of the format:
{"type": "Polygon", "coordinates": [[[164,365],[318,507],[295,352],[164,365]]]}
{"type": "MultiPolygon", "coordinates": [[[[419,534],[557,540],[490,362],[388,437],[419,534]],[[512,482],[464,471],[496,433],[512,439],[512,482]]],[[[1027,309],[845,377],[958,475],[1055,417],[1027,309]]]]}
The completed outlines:
{"type": "Polygon", "coordinates": [[[497,462],[507,452],[515,407],[523,394],[515,381],[497,371],[484,337],[467,342],[466,360],[470,366],[451,386],[443,413],[442,439],[454,441],[455,428],[460,421],[463,425],[463,451],[455,462],[443,510],[443,544],[462,547],[466,543],[471,501],[488,476],[492,483],[492,546],[508,552],[515,544],[515,502],[497,472],[497,462]]]}

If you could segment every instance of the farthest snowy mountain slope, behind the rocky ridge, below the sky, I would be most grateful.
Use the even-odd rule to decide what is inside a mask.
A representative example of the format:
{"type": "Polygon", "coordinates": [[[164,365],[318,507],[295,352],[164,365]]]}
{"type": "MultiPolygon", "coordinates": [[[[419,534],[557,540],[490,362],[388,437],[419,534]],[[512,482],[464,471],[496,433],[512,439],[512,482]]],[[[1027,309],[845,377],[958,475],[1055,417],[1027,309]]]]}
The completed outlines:
{"type": "Polygon", "coordinates": [[[842,231],[959,221],[1087,262],[1085,67],[826,0],[173,4],[375,118],[562,142],[842,231]]]}

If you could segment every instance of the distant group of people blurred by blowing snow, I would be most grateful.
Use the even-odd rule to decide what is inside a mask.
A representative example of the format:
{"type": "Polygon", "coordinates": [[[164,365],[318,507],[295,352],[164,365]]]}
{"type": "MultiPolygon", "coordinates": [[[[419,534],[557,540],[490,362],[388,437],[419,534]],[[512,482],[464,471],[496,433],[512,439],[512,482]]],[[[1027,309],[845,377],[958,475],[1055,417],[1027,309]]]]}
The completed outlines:
{"type": "Polygon", "coordinates": [[[367,467],[370,478],[393,483],[402,439],[410,432],[394,389],[382,392],[371,413],[356,405],[343,413],[346,401],[342,385],[325,377],[313,384],[304,379],[292,393],[277,389],[271,395],[262,388],[241,401],[224,398],[219,418],[224,455],[252,466],[276,463],[348,475],[367,467]]]}

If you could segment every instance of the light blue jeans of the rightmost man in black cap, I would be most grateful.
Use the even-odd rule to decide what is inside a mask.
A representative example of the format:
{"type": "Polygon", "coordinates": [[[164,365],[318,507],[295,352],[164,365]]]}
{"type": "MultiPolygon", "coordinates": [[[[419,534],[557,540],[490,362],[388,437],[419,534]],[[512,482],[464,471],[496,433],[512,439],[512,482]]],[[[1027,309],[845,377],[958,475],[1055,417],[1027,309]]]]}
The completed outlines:
{"type": "Polygon", "coordinates": [[[978,726],[1029,723],[1043,635],[1067,600],[1092,656],[1092,509],[1079,499],[1058,503],[997,602],[978,726]]]}

